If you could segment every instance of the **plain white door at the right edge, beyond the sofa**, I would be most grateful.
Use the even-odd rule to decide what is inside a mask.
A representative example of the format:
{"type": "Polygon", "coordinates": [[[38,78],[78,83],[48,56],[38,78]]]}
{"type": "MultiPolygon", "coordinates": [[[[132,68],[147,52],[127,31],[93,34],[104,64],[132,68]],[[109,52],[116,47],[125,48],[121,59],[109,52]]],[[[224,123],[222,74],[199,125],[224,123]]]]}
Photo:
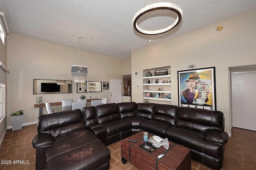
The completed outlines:
{"type": "Polygon", "coordinates": [[[232,73],[233,127],[256,131],[256,72],[232,73]]]}

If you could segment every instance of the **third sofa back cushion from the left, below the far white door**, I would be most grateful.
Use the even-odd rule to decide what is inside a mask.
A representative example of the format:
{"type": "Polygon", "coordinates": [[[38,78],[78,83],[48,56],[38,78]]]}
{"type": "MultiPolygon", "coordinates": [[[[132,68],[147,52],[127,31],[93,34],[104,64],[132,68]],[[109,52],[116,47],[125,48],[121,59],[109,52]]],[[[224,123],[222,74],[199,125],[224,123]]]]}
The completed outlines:
{"type": "Polygon", "coordinates": [[[95,107],[98,123],[105,123],[117,119],[121,119],[117,104],[102,104],[95,107]]]}

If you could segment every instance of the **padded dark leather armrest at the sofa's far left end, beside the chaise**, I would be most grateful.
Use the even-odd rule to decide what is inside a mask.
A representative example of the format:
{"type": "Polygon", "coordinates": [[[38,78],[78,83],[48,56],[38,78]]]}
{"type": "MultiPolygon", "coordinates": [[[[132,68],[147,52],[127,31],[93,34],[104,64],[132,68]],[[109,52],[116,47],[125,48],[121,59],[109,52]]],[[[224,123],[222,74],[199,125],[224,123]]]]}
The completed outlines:
{"type": "Polygon", "coordinates": [[[54,143],[54,138],[51,134],[48,134],[48,133],[40,133],[34,136],[32,141],[33,148],[50,146],[53,143],[54,143]]]}

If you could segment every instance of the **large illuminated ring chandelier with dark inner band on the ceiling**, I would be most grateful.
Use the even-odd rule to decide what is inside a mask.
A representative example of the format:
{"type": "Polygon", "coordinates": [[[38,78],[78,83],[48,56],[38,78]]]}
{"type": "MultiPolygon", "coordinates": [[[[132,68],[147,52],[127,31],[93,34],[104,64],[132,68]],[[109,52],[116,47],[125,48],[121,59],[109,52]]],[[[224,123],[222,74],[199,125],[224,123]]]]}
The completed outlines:
{"type": "Polygon", "coordinates": [[[132,23],[133,23],[134,29],[139,33],[142,33],[145,35],[157,35],[157,34],[165,33],[167,31],[174,29],[180,23],[181,20],[182,20],[182,10],[178,5],[171,2],[156,2],[153,4],[149,4],[141,8],[140,10],[138,10],[138,12],[136,12],[135,16],[133,17],[132,23]],[[146,14],[147,12],[151,12],[155,10],[170,10],[177,15],[177,19],[174,21],[174,23],[172,23],[171,25],[163,29],[148,31],[140,28],[137,24],[138,19],[144,14],[146,14]]]}

